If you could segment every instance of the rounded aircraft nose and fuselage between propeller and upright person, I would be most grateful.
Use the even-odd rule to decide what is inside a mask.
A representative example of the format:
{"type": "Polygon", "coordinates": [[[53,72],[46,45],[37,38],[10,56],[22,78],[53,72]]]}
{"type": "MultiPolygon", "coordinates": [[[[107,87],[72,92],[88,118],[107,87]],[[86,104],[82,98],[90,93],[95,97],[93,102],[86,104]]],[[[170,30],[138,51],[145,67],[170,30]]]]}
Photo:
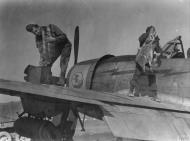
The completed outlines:
{"type": "Polygon", "coordinates": [[[135,55],[105,55],[80,62],[68,73],[68,87],[104,92],[127,89],[135,70],[134,60],[135,55]]]}

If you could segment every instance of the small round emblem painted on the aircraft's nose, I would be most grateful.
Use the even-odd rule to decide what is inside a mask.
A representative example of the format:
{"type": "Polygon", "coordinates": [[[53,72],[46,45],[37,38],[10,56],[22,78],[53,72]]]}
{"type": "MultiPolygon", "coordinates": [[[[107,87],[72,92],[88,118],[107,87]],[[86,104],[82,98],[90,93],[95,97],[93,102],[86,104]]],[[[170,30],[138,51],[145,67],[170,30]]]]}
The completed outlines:
{"type": "Polygon", "coordinates": [[[81,72],[73,74],[71,79],[74,88],[81,88],[83,85],[83,75],[81,72]]]}

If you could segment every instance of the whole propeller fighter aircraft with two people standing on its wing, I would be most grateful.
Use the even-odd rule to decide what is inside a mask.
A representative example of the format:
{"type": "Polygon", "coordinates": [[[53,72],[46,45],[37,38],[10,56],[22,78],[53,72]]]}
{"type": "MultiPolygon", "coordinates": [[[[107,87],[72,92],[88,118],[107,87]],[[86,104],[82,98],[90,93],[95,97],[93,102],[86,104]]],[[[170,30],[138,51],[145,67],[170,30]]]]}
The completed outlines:
{"type": "Polygon", "coordinates": [[[79,28],[75,30],[75,64],[65,87],[49,68],[28,66],[27,82],[0,79],[0,93],[19,96],[23,113],[12,130],[33,140],[69,140],[79,113],[104,120],[117,140],[190,141],[190,59],[181,36],[169,41],[153,70],[139,78],[139,96],[129,97],[135,55],[105,55],[77,62],[79,28]],[[156,78],[150,82],[148,76],[156,78]],[[158,101],[150,98],[157,91],[158,101]],[[54,119],[61,115],[58,124],[54,119]]]}

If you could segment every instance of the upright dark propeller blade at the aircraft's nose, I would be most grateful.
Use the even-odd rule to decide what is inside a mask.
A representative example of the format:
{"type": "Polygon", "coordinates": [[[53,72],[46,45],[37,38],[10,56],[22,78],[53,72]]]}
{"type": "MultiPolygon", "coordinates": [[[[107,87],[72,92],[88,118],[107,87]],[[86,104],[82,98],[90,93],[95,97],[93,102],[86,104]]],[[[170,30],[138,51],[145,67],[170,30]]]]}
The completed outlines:
{"type": "Polygon", "coordinates": [[[78,50],[79,50],[79,26],[75,28],[75,36],[74,36],[74,65],[78,60],[78,50]]]}

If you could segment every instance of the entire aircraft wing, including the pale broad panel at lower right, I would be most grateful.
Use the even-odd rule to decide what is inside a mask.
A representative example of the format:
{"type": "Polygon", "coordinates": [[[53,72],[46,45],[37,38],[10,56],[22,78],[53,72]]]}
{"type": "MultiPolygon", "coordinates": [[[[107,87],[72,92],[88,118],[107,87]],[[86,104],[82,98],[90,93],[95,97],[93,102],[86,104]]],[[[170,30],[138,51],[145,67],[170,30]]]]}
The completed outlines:
{"type": "Polygon", "coordinates": [[[0,79],[0,93],[34,95],[99,105],[116,137],[141,140],[190,140],[190,108],[118,93],[65,88],[0,79]]]}

